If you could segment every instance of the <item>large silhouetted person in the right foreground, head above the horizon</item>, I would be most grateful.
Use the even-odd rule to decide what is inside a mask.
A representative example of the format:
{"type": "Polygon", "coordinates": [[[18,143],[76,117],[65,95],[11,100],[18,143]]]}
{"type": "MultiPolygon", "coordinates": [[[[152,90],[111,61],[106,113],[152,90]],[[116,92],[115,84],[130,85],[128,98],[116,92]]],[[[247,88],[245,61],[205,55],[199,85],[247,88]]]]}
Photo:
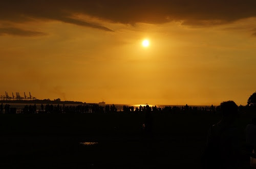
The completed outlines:
{"type": "Polygon", "coordinates": [[[238,106],[233,101],[225,101],[220,107],[222,119],[208,131],[203,168],[238,168],[240,145],[238,129],[234,125],[238,106]]]}

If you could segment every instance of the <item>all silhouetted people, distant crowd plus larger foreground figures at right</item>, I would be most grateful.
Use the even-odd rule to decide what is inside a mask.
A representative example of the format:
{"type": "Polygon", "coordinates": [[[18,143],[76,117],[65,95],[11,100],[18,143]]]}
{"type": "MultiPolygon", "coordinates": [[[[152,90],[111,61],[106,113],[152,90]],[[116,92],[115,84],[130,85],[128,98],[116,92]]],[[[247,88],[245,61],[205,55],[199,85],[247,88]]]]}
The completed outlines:
{"type": "MultiPolygon", "coordinates": [[[[0,105],[0,114],[12,114],[12,108],[9,104],[0,105]]],[[[219,106],[165,106],[163,108],[157,106],[126,106],[123,105],[122,112],[144,113],[145,123],[143,124],[145,134],[152,135],[153,116],[154,113],[190,113],[190,112],[221,112],[222,119],[220,122],[212,125],[207,134],[207,143],[202,155],[202,168],[238,168],[241,156],[250,157],[250,166],[256,167],[256,118],[246,126],[246,144],[239,143],[241,135],[238,134],[239,127],[235,120],[240,112],[246,109],[255,108],[253,106],[237,106],[233,101],[222,102],[219,106]],[[254,150],[255,149],[255,150],[254,150]]],[[[13,108],[16,111],[16,108],[13,108]]],[[[121,111],[121,110],[120,110],[121,111]]],[[[25,105],[20,111],[22,114],[85,114],[85,113],[117,113],[117,107],[101,106],[98,104],[91,105],[40,105],[37,109],[36,104],[25,105]]]]}

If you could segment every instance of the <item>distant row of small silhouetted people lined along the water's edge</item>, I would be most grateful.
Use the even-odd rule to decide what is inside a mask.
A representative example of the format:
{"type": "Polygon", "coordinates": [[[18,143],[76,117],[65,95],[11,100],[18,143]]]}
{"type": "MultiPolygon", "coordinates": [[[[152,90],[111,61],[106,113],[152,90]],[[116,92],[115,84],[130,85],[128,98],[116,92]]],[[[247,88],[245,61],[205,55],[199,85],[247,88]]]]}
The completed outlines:
{"type": "MultiPolygon", "coordinates": [[[[187,112],[218,112],[220,111],[220,106],[165,106],[165,107],[157,107],[152,106],[149,107],[150,111],[153,113],[187,113],[187,112]]],[[[239,111],[245,111],[246,106],[239,106],[239,111]]],[[[38,108],[36,104],[34,105],[25,105],[22,109],[17,109],[15,107],[11,107],[9,104],[0,105],[0,114],[85,114],[85,113],[115,113],[115,112],[126,112],[126,113],[140,113],[146,112],[146,106],[127,106],[123,105],[122,109],[117,108],[114,104],[101,106],[98,104],[91,105],[53,105],[53,104],[41,104],[38,108]]]]}

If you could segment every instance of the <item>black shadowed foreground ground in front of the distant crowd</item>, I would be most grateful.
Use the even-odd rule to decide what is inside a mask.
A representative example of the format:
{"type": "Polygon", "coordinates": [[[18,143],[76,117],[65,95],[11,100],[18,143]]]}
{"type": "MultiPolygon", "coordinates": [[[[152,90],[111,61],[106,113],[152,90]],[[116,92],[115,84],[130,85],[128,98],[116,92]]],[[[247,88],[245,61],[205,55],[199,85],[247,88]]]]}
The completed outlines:
{"type": "MultiPolygon", "coordinates": [[[[243,143],[252,116],[238,117],[243,143]]],[[[145,136],[143,114],[0,115],[0,168],[200,168],[208,128],[221,116],[153,117],[145,136]]]]}

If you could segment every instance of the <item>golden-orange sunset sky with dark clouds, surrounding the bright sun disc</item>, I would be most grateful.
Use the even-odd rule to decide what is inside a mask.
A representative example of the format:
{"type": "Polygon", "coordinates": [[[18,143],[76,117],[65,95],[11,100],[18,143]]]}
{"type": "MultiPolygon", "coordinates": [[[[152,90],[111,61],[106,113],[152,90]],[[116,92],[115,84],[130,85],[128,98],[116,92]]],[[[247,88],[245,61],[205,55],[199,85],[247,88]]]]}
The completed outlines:
{"type": "Polygon", "coordinates": [[[246,104],[256,90],[256,3],[206,2],[3,1],[0,95],[246,104]]]}

